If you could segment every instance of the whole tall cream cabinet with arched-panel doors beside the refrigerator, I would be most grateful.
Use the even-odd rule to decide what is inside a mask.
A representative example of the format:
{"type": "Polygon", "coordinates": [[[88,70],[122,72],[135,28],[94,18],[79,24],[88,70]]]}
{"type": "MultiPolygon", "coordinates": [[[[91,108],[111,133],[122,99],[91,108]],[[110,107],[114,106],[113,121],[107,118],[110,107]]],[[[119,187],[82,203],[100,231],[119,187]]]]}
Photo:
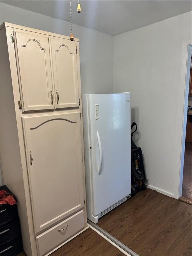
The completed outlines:
{"type": "Polygon", "coordinates": [[[24,250],[49,255],[87,227],[79,40],[0,27],[0,156],[24,250]]]}

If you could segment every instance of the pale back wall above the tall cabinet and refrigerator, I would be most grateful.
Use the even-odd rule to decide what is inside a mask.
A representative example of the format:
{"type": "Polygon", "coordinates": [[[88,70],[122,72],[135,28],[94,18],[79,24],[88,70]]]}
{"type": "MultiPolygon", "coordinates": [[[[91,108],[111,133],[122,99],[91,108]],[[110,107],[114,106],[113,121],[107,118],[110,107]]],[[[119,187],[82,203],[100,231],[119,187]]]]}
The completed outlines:
{"type": "MultiPolygon", "coordinates": [[[[63,35],[70,35],[70,23],[0,2],[0,24],[10,22],[63,35]]],[[[113,92],[113,36],[73,24],[80,39],[82,94],[113,92]]],[[[2,178],[0,173],[0,186],[2,178]]]]}

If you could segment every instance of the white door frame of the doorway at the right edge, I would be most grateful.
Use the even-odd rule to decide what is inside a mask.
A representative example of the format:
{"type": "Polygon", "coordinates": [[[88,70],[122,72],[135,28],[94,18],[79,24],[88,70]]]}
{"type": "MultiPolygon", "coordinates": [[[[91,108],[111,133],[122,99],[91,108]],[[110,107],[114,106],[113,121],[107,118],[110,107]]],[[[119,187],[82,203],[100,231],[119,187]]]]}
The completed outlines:
{"type": "Polygon", "coordinates": [[[191,63],[192,40],[188,38],[182,42],[181,84],[179,90],[179,108],[177,119],[177,162],[175,169],[174,198],[180,198],[183,185],[183,167],[185,155],[185,136],[187,123],[187,106],[189,94],[189,75],[191,63]],[[185,86],[183,86],[185,85],[185,86]],[[181,117],[181,119],[180,119],[181,117]],[[181,121],[182,120],[182,121],[181,121]]]}

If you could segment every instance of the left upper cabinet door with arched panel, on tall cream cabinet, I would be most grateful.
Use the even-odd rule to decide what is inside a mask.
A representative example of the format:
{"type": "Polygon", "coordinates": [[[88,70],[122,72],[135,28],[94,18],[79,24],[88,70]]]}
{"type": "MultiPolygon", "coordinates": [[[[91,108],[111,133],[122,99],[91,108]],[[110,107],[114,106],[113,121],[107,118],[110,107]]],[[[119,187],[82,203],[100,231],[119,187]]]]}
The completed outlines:
{"type": "Polygon", "coordinates": [[[14,37],[23,112],[54,109],[48,37],[22,30],[14,37]]]}

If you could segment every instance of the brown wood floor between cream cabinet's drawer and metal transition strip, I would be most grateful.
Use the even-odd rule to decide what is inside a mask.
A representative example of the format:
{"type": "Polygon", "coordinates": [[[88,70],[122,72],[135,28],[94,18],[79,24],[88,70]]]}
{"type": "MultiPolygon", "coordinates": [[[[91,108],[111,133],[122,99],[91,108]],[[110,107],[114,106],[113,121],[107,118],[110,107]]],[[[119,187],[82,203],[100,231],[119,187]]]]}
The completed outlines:
{"type": "MultiPolygon", "coordinates": [[[[26,256],[26,254],[23,252],[18,256],[26,256]]],[[[88,228],[50,256],[125,256],[125,254],[88,228]]]]}

